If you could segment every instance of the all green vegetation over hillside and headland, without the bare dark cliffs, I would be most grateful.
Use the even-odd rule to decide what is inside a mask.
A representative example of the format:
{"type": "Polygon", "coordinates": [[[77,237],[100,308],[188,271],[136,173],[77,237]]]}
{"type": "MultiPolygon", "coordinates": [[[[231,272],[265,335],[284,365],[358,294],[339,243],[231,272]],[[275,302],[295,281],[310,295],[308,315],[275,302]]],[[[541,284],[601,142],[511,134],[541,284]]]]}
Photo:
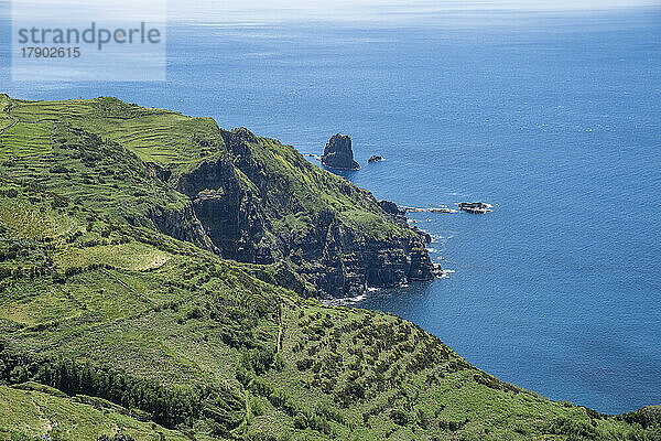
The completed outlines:
{"type": "MultiPolygon", "coordinates": [[[[48,120],[50,135],[25,144],[13,127],[0,135],[0,440],[660,439],[658,408],[611,417],[553,402],[398,316],[300,297],[294,290],[314,289],[297,272],[311,263],[238,263],[202,236],[163,234],[153,212],[191,206],[165,164],[176,154],[167,170],[185,173],[198,159],[159,130],[139,152],[124,119],[170,118],[182,132],[209,120],[106,98],[0,97],[2,106],[39,130],[48,120]],[[117,114],[123,129],[94,132],[95,111],[117,114]]],[[[220,146],[235,138],[217,132],[195,142],[223,158],[234,150],[220,146]]],[[[234,160],[260,164],[237,165],[250,172],[237,172],[243,189],[268,189],[260,206],[306,206],[288,209],[270,234],[305,237],[327,211],[375,236],[404,232],[369,193],[291,148],[257,138],[248,146],[234,160]],[[299,179],[267,179],[294,171],[299,179]]],[[[219,189],[203,190],[214,198],[232,191],[219,189]]]]}

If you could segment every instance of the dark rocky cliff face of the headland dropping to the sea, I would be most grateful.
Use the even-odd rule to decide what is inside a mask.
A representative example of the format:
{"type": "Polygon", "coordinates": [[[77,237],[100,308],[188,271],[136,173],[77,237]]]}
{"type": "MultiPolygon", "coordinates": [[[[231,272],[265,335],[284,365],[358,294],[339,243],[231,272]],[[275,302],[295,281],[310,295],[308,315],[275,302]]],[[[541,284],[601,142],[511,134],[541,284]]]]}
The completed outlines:
{"type": "MultiPolygon", "coordinates": [[[[345,193],[367,197],[373,205],[370,209],[399,228],[391,237],[372,237],[329,207],[314,211],[304,206],[299,200],[313,197],[310,194],[292,197],[291,190],[278,190],[283,181],[288,182],[285,189],[291,189],[295,179],[270,170],[273,164],[264,164],[263,155],[257,154],[261,148],[252,133],[239,129],[224,132],[224,139],[229,158],[204,162],[176,184],[177,191],[191,197],[195,217],[223,257],[285,265],[303,283],[314,287],[308,293],[317,295],[356,295],[368,287],[397,287],[434,277],[424,248],[429,237],[409,228],[395,204],[376,201],[369,193],[344,184],[348,189],[343,190],[345,193]],[[291,216],[305,222],[297,228],[278,228],[291,216]]],[[[286,149],[296,161],[302,160],[293,149],[286,149]]],[[[296,161],[289,165],[313,166],[296,161]]]]}

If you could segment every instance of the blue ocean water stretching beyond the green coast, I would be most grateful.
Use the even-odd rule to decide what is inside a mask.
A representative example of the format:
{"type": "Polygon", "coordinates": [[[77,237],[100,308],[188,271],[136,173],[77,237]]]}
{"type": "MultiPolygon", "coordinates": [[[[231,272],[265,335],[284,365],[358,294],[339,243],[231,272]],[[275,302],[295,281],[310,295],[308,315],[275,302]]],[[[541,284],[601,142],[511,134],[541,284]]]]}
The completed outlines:
{"type": "Polygon", "coordinates": [[[12,83],[3,19],[0,92],[117,96],[303,152],[351,135],[364,168],[345,175],[378,197],[495,205],[412,214],[455,272],[356,305],[552,399],[661,404],[661,10],[478,15],[172,22],[167,82],[142,84],[12,83]]]}

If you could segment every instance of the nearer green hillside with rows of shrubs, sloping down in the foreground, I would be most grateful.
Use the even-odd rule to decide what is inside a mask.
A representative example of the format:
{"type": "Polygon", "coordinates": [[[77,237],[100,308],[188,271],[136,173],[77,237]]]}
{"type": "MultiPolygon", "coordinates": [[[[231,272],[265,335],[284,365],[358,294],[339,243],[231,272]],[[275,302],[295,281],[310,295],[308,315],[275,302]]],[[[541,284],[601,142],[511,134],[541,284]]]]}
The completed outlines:
{"type": "Polygon", "coordinates": [[[13,181],[0,185],[0,341],[2,381],[37,383],[0,387],[7,439],[658,439],[655,410],[550,401],[400,318],[301,299],[13,181]]]}

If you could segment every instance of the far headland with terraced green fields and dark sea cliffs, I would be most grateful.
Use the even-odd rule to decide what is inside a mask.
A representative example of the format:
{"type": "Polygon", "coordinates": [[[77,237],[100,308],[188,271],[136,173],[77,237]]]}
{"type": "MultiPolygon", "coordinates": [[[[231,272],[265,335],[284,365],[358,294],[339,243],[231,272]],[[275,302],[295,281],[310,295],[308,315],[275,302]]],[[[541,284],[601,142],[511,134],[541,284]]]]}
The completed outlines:
{"type": "Polygon", "coordinates": [[[2,99],[17,122],[0,171],[14,179],[225,258],[279,262],[308,294],[434,277],[429,236],[278,141],[115,98],[2,99]]]}

